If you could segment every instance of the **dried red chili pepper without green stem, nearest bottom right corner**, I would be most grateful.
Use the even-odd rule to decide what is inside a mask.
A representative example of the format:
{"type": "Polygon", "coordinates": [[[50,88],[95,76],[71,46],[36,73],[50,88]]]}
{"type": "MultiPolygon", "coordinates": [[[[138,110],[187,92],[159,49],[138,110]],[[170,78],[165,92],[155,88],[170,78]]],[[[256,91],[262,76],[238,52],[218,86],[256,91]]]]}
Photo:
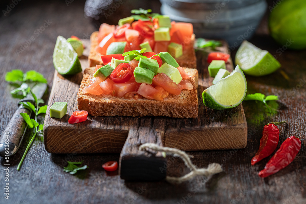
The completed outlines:
{"type": "Polygon", "coordinates": [[[301,140],[295,136],[287,138],[268,161],[265,168],[258,174],[260,177],[267,177],[288,166],[301,148],[301,140]]]}

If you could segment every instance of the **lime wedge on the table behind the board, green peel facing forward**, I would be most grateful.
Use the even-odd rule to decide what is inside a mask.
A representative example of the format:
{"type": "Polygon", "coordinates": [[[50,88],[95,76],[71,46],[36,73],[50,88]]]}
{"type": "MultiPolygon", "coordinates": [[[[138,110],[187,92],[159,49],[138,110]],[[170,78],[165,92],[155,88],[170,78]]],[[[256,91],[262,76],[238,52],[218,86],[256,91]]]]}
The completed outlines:
{"type": "Polygon", "coordinates": [[[245,74],[264,76],[281,67],[281,64],[267,51],[244,40],[237,50],[235,64],[239,65],[245,74]]]}

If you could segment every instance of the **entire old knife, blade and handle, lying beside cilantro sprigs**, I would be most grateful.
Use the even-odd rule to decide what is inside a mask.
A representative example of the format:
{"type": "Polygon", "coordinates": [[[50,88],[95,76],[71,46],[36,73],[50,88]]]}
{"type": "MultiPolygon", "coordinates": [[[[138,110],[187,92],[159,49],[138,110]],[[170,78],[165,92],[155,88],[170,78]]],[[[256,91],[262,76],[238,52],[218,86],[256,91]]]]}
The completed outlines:
{"type": "MultiPolygon", "coordinates": [[[[47,89],[46,83],[37,83],[31,91],[37,98],[42,98],[47,89]]],[[[19,102],[31,102],[34,103],[34,98],[29,93],[24,99],[19,102]]],[[[18,102],[18,104],[19,104],[18,102]]],[[[22,105],[13,114],[13,117],[4,129],[0,138],[0,156],[7,157],[16,153],[20,147],[21,141],[28,128],[28,124],[24,121],[20,113],[27,113],[31,116],[31,111],[24,108],[22,105]]]]}

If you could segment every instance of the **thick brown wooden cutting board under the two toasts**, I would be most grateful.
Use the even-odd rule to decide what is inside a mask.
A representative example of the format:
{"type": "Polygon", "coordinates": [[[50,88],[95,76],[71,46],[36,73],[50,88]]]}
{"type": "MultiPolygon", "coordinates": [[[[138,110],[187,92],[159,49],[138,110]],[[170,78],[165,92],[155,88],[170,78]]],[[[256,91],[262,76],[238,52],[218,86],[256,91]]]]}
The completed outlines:
{"type": "MultiPolygon", "coordinates": [[[[87,57],[85,57],[89,53],[88,39],[84,39],[84,45],[86,46],[84,56],[80,57],[83,70],[88,67],[87,57]]],[[[222,42],[222,47],[217,49],[227,53],[228,45],[222,42]]],[[[121,152],[121,161],[125,161],[120,161],[121,178],[124,178],[122,167],[126,166],[129,169],[130,166],[135,165],[135,162],[141,163],[143,170],[149,169],[153,172],[154,168],[159,169],[159,166],[164,165],[165,159],[160,154],[138,151],[138,147],[143,143],[157,143],[160,146],[185,151],[246,147],[247,123],[242,104],[227,110],[214,110],[203,105],[202,92],[212,85],[213,80],[208,74],[206,55],[207,53],[197,52],[199,116],[196,119],[88,115],[85,122],[69,124],[69,117],[73,111],[77,110],[76,94],[80,87],[82,73],[63,77],[55,71],[43,130],[46,150],[58,154],[121,152]],[[61,101],[68,102],[67,114],[62,119],[51,118],[50,106],[54,102],[61,101]]],[[[231,58],[226,63],[226,69],[233,71],[231,58]]],[[[127,170],[126,179],[133,180],[133,176],[139,178],[139,173],[133,174],[132,171],[127,170]]],[[[165,174],[158,174],[155,178],[159,176],[163,177],[165,174]]]]}

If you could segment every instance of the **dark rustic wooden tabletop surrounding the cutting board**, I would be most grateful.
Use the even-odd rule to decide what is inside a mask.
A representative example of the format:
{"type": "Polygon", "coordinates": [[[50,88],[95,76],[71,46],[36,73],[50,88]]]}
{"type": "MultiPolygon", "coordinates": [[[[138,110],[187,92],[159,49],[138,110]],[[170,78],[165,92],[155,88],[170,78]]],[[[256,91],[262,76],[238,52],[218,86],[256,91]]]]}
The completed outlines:
{"type": "MultiPolygon", "coordinates": [[[[18,102],[9,93],[13,87],[4,80],[5,73],[11,69],[34,69],[43,73],[51,87],[56,37],[89,38],[96,30],[84,18],[84,2],[71,2],[67,7],[64,1],[35,4],[21,1],[6,16],[0,17],[1,133],[18,102]]],[[[0,158],[0,203],[306,203],[306,51],[280,48],[268,36],[265,19],[251,42],[276,55],[282,64],[280,70],[289,78],[285,78],[281,71],[264,77],[247,76],[248,92],[278,95],[280,100],[270,104],[278,110],[269,113],[260,103],[243,102],[248,122],[245,149],[189,152],[197,166],[207,167],[209,163],[217,162],[223,165],[224,172],[209,180],[198,177],[180,185],[125,182],[118,176],[118,171],[107,173],[101,167],[106,161],[118,161],[119,154],[49,154],[39,139],[42,135],[34,141],[17,172],[17,164],[29,140],[26,135],[20,150],[9,158],[9,181],[5,181],[4,160],[0,158]],[[254,166],[250,164],[251,158],[258,150],[263,126],[270,121],[282,120],[288,123],[279,127],[278,148],[287,137],[296,135],[302,140],[301,150],[288,167],[262,179],[258,172],[270,157],[254,166]],[[63,172],[66,161],[81,160],[90,167],[85,174],[72,176],[63,172]],[[9,200],[3,194],[6,182],[9,182],[9,200]]],[[[48,95],[44,99],[47,100],[48,95]]],[[[170,159],[168,169],[174,176],[188,172],[178,159],[170,159]]]]}

